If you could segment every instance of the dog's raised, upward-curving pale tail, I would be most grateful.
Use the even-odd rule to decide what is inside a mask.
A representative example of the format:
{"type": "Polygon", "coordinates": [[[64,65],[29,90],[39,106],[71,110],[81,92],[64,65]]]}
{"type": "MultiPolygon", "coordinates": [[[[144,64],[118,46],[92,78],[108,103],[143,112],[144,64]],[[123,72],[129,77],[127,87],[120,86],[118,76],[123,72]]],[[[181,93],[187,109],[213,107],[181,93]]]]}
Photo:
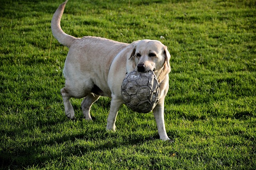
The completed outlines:
{"type": "Polygon", "coordinates": [[[72,40],[76,38],[66,34],[60,27],[60,20],[67,2],[68,0],[66,0],[63,4],[61,4],[58,7],[58,9],[55,11],[52,17],[51,27],[52,27],[52,34],[58,40],[58,42],[60,42],[60,44],[63,44],[64,46],[67,46],[69,48],[72,40]]]}

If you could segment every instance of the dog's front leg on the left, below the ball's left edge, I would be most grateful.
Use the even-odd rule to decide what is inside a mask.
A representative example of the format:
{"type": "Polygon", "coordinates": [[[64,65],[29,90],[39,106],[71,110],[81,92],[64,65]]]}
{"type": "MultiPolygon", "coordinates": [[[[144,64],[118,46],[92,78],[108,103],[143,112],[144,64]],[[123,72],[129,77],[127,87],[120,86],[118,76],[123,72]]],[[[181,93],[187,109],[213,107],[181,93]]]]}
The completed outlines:
{"type": "Polygon", "coordinates": [[[108,114],[107,130],[116,130],[116,116],[123,101],[120,98],[112,97],[110,103],[110,112],[108,114]]]}

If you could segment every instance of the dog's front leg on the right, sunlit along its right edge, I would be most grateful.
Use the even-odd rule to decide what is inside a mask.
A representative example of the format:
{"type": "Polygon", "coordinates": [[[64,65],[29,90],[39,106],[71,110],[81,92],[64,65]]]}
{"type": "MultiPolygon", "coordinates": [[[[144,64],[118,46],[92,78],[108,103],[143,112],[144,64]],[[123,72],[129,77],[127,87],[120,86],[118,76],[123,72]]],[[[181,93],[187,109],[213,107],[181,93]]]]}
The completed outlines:
{"type": "Polygon", "coordinates": [[[153,114],[156,120],[156,126],[160,139],[170,140],[166,134],[165,124],[164,124],[164,102],[159,102],[153,109],[153,114]]]}

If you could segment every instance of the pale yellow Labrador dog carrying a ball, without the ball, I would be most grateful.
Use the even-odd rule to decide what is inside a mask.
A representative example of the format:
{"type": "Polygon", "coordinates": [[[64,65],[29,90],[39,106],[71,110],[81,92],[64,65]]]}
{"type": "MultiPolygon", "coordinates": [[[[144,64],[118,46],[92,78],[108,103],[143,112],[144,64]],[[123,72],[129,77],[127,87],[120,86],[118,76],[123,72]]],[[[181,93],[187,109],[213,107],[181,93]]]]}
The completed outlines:
{"type": "Polygon", "coordinates": [[[74,119],[70,98],[84,98],[81,103],[84,118],[92,120],[90,108],[100,96],[111,98],[107,130],[116,130],[116,116],[122,104],[121,85],[127,73],[153,70],[160,84],[159,101],[153,109],[161,140],[170,140],[164,124],[164,98],[169,88],[170,53],[158,40],[138,40],[131,44],[106,38],[84,36],[75,38],[63,32],[60,20],[68,0],[52,17],[53,36],[69,48],[63,74],[65,86],[60,90],[65,114],[74,119]]]}

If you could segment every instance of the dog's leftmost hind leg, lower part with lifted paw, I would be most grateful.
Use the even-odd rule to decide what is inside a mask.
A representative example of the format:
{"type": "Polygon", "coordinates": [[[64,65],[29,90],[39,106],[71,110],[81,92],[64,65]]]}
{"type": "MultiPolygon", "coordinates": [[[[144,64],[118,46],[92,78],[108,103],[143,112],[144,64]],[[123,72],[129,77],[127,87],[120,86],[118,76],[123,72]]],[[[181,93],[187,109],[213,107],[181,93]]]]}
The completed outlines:
{"type": "Polygon", "coordinates": [[[74,112],[73,106],[71,105],[70,100],[69,100],[71,98],[70,95],[66,91],[65,87],[62,88],[60,90],[60,92],[61,92],[61,95],[62,95],[66,116],[70,119],[74,119],[75,118],[75,112],[74,112]]]}

